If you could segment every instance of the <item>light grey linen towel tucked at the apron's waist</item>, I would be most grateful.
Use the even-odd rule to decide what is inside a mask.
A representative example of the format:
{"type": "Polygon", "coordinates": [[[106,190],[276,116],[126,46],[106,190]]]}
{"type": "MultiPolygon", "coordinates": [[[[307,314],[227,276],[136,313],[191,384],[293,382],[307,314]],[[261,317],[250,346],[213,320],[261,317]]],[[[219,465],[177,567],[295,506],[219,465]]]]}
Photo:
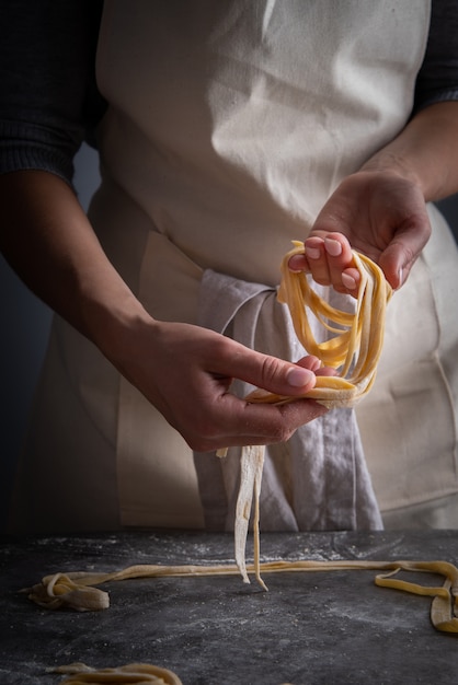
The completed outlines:
{"type": "MultiPolygon", "coordinates": [[[[342,309],[342,301],[350,301],[330,294],[342,309]]],[[[296,361],[307,353],[275,289],[210,269],[201,282],[198,323],[283,359],[296,361]]],[[[319,339],[320,332],[314,335],[319,339]]],[[[232,388],[239,396],[249,390],[241,382],[232,388]]],[[[240,448],[231,448],[222,458],[194,455],[209,530],[233,527],[240,454],[240,448]]],[[[332,409],[302,426],[288,442],[266,446],[260,507],[262,530],[382,527],[352,409],[332,409]]]]}

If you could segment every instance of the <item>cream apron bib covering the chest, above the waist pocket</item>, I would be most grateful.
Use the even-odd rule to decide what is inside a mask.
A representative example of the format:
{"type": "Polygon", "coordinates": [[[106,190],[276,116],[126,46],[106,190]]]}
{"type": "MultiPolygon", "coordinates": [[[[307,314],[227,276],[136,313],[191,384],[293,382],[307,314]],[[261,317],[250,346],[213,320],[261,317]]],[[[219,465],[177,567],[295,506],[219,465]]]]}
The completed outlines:
{"type": "Polygon", "coordinates": [[[413,102],[428,2],[105,3],[106,173],[202,268],[276,285],[413,102]]]}

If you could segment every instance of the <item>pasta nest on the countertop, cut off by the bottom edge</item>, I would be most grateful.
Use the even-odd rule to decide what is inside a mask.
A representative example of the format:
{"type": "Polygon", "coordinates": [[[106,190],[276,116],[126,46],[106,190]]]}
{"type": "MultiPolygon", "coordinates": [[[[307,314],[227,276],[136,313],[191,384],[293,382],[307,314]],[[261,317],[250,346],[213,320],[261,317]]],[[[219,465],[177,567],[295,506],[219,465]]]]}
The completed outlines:
{"type": "Polygon", "coordinates": [[[70,663],[67,666],[57,666],[53,673],[70,674],[61,681],[61,685],[118,685],[121,683],[138,683],[147,685],[183,685],[178,675],[168,669],[161,669],[149,663],[129,663],[113,669],[91,669],[84,663],[70,663]]]}

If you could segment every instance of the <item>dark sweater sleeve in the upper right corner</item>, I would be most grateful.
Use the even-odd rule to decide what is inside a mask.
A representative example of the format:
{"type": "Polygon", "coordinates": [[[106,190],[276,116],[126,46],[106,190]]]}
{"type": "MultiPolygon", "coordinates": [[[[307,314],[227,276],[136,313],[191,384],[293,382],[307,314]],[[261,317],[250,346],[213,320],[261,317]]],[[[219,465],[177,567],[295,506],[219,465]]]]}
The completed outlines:
{"type": "Polygon", "coordinates": [[[430,35],[416,79],[414,112],[458,100],[458,3],[433,0],[430,35]]]}

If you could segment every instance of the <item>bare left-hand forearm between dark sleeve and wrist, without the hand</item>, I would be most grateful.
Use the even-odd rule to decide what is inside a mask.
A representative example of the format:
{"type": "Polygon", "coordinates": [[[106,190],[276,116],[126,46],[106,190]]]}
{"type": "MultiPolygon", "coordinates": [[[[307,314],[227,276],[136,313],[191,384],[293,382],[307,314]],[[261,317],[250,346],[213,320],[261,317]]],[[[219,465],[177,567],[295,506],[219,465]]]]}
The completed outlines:
{"type": "MultiPolygon", "coordinates": [[[[25,285],[80,333],[106,347],[140,303],[110,264],[71,188],[58,176],[0,176],[0,247],[25,285]]],[[[105,353],[111,350],[104,349],[105,353]]]]}

